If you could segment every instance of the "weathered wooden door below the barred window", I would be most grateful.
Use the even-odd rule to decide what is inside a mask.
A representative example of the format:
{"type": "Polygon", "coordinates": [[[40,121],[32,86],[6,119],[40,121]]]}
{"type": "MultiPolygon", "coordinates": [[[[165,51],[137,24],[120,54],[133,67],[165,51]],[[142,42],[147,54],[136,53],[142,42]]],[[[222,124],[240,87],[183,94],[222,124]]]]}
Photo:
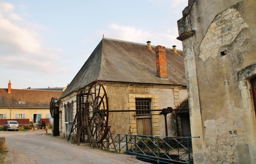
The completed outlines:
{"type": "Polygon", "coordinates": [[[137,135],[152,135],[151,118],[136,119],[137,121],[137,135]]]}

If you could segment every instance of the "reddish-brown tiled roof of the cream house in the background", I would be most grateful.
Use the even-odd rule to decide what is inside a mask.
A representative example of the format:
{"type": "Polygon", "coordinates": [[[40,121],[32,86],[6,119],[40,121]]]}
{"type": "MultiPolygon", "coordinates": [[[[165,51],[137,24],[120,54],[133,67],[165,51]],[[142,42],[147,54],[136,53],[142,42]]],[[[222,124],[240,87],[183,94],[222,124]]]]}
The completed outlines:
{"type": "Polygon", "coordinates": [[[59,98],[62,91],[40,91],[0,88],[0,107],[8,108],[49,108],[52,97],[59,98]],[[25,104],[19,104],[25,101],[25,104]]]}

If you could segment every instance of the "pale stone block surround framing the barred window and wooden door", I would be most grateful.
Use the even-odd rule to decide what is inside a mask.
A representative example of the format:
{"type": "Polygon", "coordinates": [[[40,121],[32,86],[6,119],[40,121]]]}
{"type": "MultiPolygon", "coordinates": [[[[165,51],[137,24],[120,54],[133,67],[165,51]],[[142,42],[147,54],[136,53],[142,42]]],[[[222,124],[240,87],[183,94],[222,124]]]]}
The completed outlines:
{"type": "MultiPolygon", "coordinates": [[[[127,103],[127,107],[129,110],[136,110],[135,108],[135,99],[148,98],[151,99],[152,109],[159,109],[158,94],[128,94],[129,102],[127,103]]],[[[153,111],[151,114],[159,114],[159,111],[153,111]]],[[[136,123],[136,112],[129,112],[130,115],[130,131],[133,135],[137,135],[137,123],[136,123]]],[[[153,115],[151,117],[152,121],[152,134],[160,135],[160,127],[159,127],[159,115],[153,115]]]]}

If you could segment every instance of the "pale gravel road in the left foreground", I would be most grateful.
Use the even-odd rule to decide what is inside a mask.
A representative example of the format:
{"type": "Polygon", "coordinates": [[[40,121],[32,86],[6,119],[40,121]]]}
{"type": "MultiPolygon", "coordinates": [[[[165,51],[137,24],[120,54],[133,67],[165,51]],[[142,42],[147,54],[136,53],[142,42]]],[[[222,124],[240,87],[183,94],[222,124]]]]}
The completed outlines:
{"type": "Polygon", "coordinates": [[[69,144],[45,131],[0,131],[0,136],[6,138],[9,151],[5,164],[148,164],[135,156],[69,144]]]}

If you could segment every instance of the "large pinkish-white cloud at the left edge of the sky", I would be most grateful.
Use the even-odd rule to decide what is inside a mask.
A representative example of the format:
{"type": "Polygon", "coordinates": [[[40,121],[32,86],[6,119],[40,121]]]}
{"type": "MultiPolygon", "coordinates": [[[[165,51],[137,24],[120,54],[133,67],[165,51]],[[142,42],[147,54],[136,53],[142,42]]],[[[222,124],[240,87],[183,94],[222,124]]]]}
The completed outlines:
{"type": "Polygon", "coordinates": [[[6,69],[59,73],[59,48],[42,47],[40,26],[14,13],[14,6],[0,2],[0,66],[6,69]],[[54,70],[54,71],[53,71],[54,70]]]}

